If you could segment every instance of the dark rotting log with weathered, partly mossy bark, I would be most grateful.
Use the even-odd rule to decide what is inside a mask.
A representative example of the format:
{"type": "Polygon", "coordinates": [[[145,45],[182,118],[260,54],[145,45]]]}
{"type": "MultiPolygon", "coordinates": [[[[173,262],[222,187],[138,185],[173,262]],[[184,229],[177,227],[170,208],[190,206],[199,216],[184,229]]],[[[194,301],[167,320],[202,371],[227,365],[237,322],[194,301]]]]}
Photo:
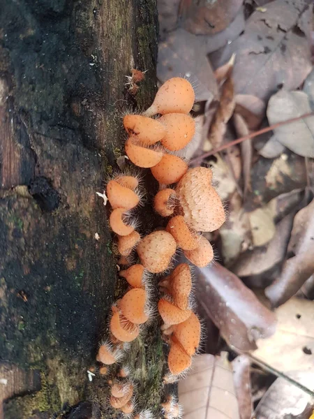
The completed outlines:
{"type": "MultiPolygon", "coordinates": [[[[121,114],[156,93],[156,0],[0,0],[0,10],[3,417],[114,418],[107,378],[87,378],[123,288],[96,191],[123,154],[121,114]],[[147,71],[135,96],[131,68],[147,71]]],[[[156,322],[127,361],[139,406],[157,412],[156,322]]]]}

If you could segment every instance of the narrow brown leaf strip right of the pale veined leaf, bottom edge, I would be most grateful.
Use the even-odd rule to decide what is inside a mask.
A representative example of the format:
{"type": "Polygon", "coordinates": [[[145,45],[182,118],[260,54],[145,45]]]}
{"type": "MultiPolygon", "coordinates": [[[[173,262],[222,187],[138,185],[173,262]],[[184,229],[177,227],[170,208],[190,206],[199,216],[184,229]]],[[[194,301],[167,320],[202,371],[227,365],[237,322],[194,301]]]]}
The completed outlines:
{"type": "Polygon", "coordinates": [[[251,360],[247,355],[239,355],[232,361],[233,382],[241,419],[251,419],[253,413],[250,366],[251,360]]]}

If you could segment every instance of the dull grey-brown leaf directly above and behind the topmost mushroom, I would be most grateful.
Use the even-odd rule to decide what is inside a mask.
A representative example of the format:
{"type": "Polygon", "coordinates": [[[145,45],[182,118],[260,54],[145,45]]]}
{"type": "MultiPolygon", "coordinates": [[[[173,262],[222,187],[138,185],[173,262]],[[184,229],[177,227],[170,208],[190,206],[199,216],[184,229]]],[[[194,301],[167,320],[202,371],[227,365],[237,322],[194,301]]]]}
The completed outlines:
{"type": "Polygon", "coordinates": [[[157,76],[161,82],[172,77],[188,78],[195,88],[196,101],[212,100],[217,94],[205,46],[184,29],[173,31],[159,44],[157,76]]]}

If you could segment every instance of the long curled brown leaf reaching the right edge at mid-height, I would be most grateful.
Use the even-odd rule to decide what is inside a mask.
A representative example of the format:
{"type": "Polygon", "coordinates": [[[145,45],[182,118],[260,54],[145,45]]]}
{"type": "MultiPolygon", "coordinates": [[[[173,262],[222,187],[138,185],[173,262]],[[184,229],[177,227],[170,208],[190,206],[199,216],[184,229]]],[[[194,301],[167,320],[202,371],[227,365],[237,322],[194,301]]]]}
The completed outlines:
{"type": "Polygon", "coordinates": [[[314,200],[294,217],[288,254],[281,276],[265,290],[274,307],[289,300],[314,273],[314,200]]]}

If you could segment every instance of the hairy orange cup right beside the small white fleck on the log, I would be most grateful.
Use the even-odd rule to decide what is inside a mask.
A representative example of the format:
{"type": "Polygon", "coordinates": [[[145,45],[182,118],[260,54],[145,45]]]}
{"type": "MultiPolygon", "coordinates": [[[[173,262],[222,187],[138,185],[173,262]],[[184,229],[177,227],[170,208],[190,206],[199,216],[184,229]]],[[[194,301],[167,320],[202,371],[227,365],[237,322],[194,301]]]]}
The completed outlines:
{"type": "Polygon", "coordinates": [[[134,191],[122,186],[116,180],[110,180],[107,183],[106,192],[113,210],[119,207],[131,210],[140,202],[140,197],[134,191]]]}

